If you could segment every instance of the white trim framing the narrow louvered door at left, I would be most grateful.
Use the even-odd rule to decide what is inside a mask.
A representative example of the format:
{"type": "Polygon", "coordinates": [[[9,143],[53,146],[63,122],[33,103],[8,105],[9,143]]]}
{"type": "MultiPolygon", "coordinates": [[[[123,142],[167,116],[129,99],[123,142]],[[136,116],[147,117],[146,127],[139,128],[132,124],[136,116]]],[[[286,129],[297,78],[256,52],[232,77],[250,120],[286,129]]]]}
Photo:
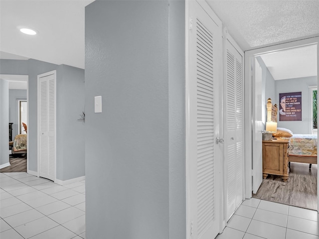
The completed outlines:
{"type": "Polygon", "coordinates": [[[55,154],[54,154],[54,168],[55,168],[55,174],[54,174],[54,182],[56,181],[56,70],[49,71],[43,74],[40,74],[37,76],[37,176],[40,175],[40,78],[54,75],[54,92],[55,92],[55,109],[54,109],[54,135],[55,135],[55,154]]]}

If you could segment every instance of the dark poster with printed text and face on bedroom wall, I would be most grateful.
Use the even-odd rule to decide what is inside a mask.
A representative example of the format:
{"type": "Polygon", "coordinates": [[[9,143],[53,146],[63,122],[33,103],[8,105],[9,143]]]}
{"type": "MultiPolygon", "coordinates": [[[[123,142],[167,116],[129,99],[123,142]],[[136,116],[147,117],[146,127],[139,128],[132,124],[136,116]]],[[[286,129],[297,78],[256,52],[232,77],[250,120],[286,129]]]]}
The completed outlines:
{"type": "Polygon", "coordinates": [[[279,94],[279,121],[301,121],[301,92],[279,94]]]}

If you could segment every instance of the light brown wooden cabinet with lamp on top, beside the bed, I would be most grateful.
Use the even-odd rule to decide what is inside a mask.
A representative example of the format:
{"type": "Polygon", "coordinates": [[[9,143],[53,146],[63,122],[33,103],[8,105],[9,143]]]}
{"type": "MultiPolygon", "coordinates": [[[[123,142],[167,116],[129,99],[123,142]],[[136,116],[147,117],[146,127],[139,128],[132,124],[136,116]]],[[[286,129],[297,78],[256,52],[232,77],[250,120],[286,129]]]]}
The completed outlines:
{"type": "Polygon", "coordinates": [[[268,174],[283,176],[288,180],[288,144],[290,139],[273,139],[263,141],[263,177],[268,174]]]}

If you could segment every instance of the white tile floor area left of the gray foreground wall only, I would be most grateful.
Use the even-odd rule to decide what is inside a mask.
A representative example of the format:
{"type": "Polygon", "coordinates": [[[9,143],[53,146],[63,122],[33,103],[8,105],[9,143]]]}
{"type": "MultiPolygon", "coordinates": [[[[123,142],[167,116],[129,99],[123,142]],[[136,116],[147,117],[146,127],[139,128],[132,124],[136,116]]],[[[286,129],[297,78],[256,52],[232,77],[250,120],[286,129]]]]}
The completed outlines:
{"type": "Polygon", "coordinates": [[[0,239],[85,239],[85,180],[0,173],[0,239]]]}

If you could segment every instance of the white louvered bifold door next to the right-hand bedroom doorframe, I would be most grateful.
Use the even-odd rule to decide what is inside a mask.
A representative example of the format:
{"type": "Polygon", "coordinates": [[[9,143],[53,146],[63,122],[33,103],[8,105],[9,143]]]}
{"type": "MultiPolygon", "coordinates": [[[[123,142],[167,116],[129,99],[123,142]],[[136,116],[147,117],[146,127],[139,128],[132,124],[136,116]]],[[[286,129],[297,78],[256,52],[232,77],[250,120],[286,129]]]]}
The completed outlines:
{"type": "Polygon", "coordinates": [[[225,43],[225,190],[226,221],[244,197],[243,56],[225,43]]]}

